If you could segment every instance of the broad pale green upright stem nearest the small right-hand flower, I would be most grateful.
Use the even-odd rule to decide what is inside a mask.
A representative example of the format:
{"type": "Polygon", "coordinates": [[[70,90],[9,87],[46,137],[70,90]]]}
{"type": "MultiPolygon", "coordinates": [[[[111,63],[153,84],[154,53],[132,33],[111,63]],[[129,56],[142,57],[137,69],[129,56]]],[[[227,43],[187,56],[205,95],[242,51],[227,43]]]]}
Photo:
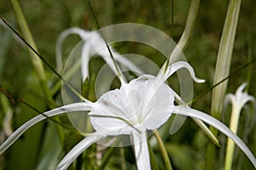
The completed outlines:
{"type": "MultiPolygon", "coordinates": [[[[213,84],[216,84],[228,77],[230,74],[230,63],[232,58],[232,52],[234,48],[234,42],[236,37],[236,27],[239,18],[241,7],[241,0],[230,0],[228,11],[226,14],[224,22],[224,30],[220,40],[218,48],[218,59],[215,70],[215,77],[213,84]]],[[[224,95],[226,93],[226,88],[228,85],[228,80],[218,85],[212,91],[212,109],[211,115],[218,120],[221,117],[221,112],[224,103],[224,95]]],[[[210,127],[212,133],[217,136],[218,130],[210,127]]],[[[214,168],[216,148],[212,143],[207,144],[207,162],[206,169],[214,168]]]]}

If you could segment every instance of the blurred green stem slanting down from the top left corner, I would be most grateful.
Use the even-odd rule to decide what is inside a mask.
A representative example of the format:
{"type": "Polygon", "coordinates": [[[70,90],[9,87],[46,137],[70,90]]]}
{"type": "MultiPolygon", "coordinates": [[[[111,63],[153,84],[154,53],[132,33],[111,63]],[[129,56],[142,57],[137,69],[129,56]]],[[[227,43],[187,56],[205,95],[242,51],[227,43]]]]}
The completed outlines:
{"type": "MultiPolygon", "coordinates": [[[[29,27],[26,24],[26,19],[24,17],[24,14],[22,13],[20,4],[18,3],[17,0],[11,0],[11,3],[14,8],[16,20],[20,26],[20,30],[21,30],[23,36],[26,39],[26,42],[31,44],[32,48],[34,48],[36,51],[38,51],[36,43],[33,40],[31,31],[29,30],[29,27]]],[[[49,93],[49,88],[47,86],[47,81],[46,81],[46,76],[45,76],[45,71],[44,71],[44,65],[43,65],[42,61],[38,58],[37,54],[35,54],[30,48],[27,48],[27,50],[30,54],[30,57],[32,60],[32,65],[34,66],[34,69],[37,72],[38,80],[41,85],[41,88],[44,91],[44,96],[45,96],[46,102],[49,105],[49,107],[51,109],[53,109],[53,108],[55,108],[55,102],[53,101],[53,99],[49,93]]]]}

